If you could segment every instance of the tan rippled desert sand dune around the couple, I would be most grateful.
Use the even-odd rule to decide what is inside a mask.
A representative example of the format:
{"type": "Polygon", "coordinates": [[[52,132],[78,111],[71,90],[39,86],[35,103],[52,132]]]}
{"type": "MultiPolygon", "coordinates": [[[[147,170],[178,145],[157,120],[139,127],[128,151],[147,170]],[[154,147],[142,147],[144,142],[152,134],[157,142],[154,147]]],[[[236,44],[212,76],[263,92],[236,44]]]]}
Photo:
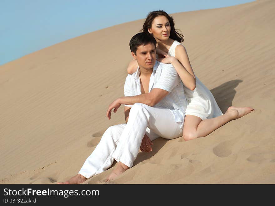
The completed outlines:
{"type": "MultiPolygon", "coordinates": [[[[192,68],[223,113],[254,112],[204,138],[156,139],[111,183],[275,183],[275,1],[174,13],[192,68]]],[[[125,123],[129,40],[144,19],[55,44],[0,67],[0,183],[55,184],[77,174],[104,131],[125,123]]],[[[84,184],[102,183],[113,168],[84,184]]]]}

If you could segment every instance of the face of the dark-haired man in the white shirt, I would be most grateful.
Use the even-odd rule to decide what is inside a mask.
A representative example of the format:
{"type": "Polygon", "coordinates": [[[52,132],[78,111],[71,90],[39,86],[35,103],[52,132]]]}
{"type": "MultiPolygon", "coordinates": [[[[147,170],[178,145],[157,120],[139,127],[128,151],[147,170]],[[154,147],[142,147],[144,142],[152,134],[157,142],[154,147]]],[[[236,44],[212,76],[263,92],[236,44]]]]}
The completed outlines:
{"type": "Polygon", "coordinates": [[[132,52],[138,66],[144,69],[152,69],[156,63],[156,47],[153,43],[141,45],[137,49],[137,55],[132,52]]]}

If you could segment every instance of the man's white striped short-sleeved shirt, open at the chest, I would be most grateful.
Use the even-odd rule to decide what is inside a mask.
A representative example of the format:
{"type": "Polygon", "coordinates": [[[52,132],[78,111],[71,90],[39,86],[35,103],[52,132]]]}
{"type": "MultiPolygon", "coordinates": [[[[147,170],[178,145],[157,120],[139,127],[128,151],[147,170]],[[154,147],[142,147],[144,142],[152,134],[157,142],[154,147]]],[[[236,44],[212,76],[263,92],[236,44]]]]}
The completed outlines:
{"type": "MultiPolygon", "coordinates": [[[[135,73],[128,74],[126,77],[124,84],[125,97],[141,94],[139,73],[140,69],[138,67],[135,73]]],[[[175,122],[182,122],[183,126],[187,100],[182,81],[172,64],[164,64],[156,61],[153,67],[153,73],[150,77],[149,92],[153,88],[164,89],[169,92],[169,94],[154,107],[169,109],[174,115],[175,122]]],[[[125,106],[132,107],[132,105],[125,106]]]]}

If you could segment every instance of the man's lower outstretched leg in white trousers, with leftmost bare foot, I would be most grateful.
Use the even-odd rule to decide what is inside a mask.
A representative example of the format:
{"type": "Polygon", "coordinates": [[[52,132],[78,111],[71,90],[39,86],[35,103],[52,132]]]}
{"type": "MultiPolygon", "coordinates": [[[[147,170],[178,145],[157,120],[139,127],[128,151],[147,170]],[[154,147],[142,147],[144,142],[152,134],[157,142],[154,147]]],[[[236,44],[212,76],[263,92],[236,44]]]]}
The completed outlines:
{"type": "Polygon", "coordinates": [[[83,183],[90,177],[101,173],[112,166],[114,159],[113,152],[117,147],[118,140],[126,124],[119,124],[109,127],[103,134],[100,142],[86,159],[79,173],[63,184],[83,183]]]}

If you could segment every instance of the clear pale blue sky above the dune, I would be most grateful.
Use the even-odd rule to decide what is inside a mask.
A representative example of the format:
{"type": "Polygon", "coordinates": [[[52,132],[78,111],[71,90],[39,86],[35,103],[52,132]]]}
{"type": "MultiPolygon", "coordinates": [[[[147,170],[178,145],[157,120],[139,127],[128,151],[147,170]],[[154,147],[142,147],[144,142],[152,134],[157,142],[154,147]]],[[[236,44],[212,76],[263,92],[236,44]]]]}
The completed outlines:
{"type": "Polygon", "coordinates": [[[0,65],[116,24],[167,13],[227,7],[252,0],[0,0],[0,65]]]}

